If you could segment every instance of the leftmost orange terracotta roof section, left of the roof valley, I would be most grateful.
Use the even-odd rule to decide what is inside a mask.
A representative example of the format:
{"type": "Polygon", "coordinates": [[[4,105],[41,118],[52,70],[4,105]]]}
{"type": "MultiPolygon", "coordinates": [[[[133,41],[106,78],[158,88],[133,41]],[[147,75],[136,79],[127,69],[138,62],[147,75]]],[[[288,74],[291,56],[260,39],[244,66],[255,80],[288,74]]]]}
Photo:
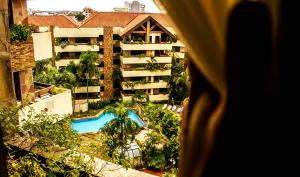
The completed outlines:
{"type": "Polygon", "coordinates": [[[57,26],[60,28],[77,28],[77,23],[70,17],[65,15],[53,16],[29,16],[28,24],[35,26],[57,26]]]}

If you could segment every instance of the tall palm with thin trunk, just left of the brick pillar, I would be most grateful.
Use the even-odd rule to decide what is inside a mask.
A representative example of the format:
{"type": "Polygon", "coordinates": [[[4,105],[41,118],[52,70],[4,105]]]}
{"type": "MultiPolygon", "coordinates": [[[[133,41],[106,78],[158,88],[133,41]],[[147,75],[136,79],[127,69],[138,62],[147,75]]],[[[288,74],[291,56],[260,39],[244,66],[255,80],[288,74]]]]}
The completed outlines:
{"type": "Polygon", "coordinates": [[[86,79],[87,103],[89,103],[89,81],[93,77],[100,75],[96,63],[99,62],[99,56],[96,52],[87,51],[80,55],[80,73],[86,79]]]}

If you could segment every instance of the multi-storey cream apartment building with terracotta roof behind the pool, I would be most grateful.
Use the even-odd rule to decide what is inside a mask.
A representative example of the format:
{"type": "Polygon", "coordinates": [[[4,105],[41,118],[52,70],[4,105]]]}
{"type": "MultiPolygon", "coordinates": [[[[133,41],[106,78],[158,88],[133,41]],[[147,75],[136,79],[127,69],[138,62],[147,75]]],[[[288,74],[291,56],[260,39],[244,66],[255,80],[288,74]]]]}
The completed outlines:
{"type": "MultiPolygon", "coordinates": [[[[95,51],[103,63],[102,75],[90,86],[91,101],[105,100],[121,92],[124,100],[144,95],[150,101],[169,99],[168,77],[171,76],[172,56],[184,59],[184,45],[176,40],[164,14],[94,12],[82,24],[60,16],[30,16],[30,25],[40,31],[54,27],[56,67],[65,67],[84,51],[95,51]],[[114,86],[112,74],[120,68],[121,88],[114,86]]],[[[76,103],[86,100],[85,86],[75,90],[76,103]]]]}

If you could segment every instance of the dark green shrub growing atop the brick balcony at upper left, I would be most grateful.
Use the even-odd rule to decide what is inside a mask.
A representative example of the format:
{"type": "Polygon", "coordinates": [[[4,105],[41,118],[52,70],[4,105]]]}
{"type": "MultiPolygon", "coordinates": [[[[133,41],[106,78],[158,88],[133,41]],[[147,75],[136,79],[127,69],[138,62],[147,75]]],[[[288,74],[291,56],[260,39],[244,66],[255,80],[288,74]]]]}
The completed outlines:
{"type": "Polygon", "coordinates": [[[10,39],[12,42],[14,41],[27,41],[27,39],[31,36],[32,32],[30,28],[23,25],[13,25],[10,29],[10,39]]]}

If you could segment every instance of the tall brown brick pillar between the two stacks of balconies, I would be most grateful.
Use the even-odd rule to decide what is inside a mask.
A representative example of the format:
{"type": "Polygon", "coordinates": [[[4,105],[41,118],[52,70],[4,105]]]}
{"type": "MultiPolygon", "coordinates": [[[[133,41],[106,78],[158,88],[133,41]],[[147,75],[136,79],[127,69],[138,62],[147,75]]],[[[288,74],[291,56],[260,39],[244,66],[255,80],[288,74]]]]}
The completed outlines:
{"type": "Polygon", "coordinates": [[[107,100],[113,97],[113,28],[104,27],[103,36],[103,74],[104,74],[104,94],[103,99],[107,100]]]}

